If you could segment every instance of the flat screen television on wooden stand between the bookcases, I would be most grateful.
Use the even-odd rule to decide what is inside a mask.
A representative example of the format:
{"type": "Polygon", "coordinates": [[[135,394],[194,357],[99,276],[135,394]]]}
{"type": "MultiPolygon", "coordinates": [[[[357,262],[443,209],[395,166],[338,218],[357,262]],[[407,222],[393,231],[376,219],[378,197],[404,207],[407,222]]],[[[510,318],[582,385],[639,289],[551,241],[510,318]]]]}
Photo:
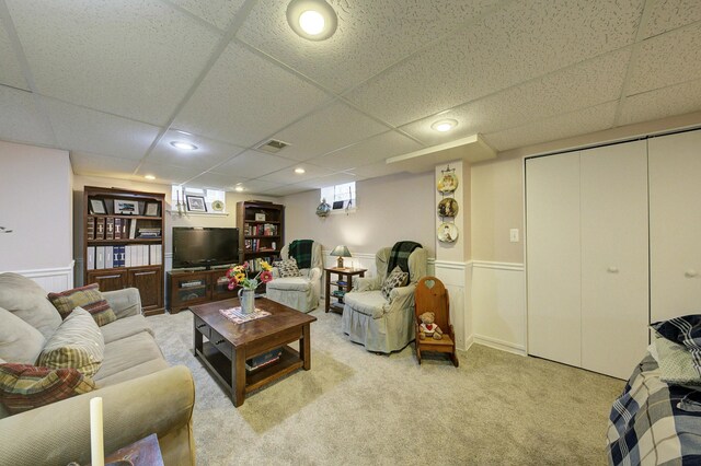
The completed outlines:
{"type": "Polygon", "coordinates": [[[239,229],[173,226],[173,268],[239,261],[239,229]]]}

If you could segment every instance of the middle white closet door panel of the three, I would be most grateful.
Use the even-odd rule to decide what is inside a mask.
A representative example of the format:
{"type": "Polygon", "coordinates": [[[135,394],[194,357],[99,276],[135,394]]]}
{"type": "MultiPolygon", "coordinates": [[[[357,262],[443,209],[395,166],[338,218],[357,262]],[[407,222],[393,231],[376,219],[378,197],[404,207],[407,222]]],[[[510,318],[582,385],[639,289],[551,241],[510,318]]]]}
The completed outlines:
{"type": "Polygon", "coordinates": [[[645,141],[581,152],[582,366],[628,378],[647,347],[645,141]]]}

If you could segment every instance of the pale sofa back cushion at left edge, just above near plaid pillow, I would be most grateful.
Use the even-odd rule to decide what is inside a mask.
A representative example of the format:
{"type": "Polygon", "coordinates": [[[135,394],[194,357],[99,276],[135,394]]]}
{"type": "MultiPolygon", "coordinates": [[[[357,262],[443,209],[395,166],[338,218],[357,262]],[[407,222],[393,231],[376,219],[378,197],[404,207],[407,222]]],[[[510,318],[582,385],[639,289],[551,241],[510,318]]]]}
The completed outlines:
{"type": "Polygon", "coordinates": [[[0,307],[0,359],[34,364],[44,348],[44,335],[10,311],[0,307]]]}

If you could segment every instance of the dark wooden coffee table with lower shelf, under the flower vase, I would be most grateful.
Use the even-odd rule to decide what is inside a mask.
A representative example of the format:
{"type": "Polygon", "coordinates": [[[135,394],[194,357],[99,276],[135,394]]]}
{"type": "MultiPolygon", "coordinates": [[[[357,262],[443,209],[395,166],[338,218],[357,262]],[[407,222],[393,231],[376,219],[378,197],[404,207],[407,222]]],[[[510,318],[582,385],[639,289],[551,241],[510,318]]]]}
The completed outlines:
{"type": "Polygon", "coordinates": [[[309,324],[317,321],[265,298],[255,300],[255,307],[269,312],[269,316],[234,324],[219,313],[238,305],[239,300],[231,299],[189,307],[195,316],[193,353],[231,396],[235,407],[243,405],[246,393],[299,368],[311,369],[309,324]],[[297,340],[300,351],[287,346],[297,340]],[[248,359],[279,347],[283,348],[279,361],[246,373],[248,359]]]}

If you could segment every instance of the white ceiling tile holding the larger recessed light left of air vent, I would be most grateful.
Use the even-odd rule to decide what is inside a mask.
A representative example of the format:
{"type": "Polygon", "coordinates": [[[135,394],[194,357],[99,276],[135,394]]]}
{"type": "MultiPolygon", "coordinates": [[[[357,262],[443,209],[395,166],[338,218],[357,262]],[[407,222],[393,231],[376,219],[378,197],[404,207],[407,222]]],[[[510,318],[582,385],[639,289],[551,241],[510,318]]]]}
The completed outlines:
{"type": "Polygon", "coordinates": [[[183,135],[176,130],[170,130],[163,135],[163,138],[161,138],[148,160],[159,164],[197,167],[200,172],[204,172],[243,152],[243,148],[227,142],[215,141],[204,136],[183,135]],[[174,141],[191,142],[197,145],[197,150],[188,151],[174,148],[171,144],[171,142],[174,141]]]}

